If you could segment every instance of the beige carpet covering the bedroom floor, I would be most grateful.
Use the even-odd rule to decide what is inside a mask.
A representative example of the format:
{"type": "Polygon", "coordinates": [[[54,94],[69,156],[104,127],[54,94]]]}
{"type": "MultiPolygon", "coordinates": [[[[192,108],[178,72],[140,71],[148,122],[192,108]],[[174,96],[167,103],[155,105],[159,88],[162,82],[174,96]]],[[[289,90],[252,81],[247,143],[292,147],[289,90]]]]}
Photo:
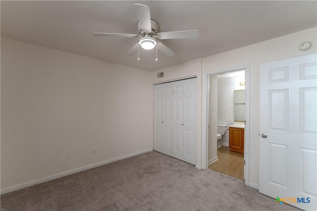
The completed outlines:
{"type": "Polygon", "coordinates": [[[214,170],[149,152],[1,195],[1,211],[298,210],[214,170]]]}

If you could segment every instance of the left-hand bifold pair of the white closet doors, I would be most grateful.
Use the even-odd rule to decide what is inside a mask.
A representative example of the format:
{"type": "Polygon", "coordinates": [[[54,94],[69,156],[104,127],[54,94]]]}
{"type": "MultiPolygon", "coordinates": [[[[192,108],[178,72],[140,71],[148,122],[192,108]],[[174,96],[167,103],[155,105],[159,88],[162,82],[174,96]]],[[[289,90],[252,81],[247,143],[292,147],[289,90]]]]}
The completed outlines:
{"type": "Polygon", "coordinates": [[[172,84],[154,85],[154,150],[172,156],[172,84]]]}

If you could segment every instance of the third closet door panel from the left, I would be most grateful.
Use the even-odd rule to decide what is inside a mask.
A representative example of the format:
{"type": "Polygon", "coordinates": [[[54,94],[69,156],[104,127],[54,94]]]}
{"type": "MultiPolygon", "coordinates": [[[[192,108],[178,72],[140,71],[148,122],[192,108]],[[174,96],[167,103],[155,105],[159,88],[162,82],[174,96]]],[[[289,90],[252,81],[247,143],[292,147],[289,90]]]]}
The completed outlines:
{"type": "Polygon", "coordinates": [[[184,82],[172,83],[172,156],[184,160],[184,82]]]}

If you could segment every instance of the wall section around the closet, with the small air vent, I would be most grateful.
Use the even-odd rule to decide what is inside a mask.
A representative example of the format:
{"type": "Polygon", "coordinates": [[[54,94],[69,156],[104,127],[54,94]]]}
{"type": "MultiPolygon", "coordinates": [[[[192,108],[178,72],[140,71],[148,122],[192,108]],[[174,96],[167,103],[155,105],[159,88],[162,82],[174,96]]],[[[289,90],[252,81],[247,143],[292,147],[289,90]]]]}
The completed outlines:
{"type": "Polygon", "coordinates": [[[197,168],[202,167],[202,59],[195,59],[182,64],[163,68],[152,73],[152,83],[168,82],[190,76],[197,76],[197,168]],[[164,72],[163,78],[157,78],[159,72],[164,72]]]}

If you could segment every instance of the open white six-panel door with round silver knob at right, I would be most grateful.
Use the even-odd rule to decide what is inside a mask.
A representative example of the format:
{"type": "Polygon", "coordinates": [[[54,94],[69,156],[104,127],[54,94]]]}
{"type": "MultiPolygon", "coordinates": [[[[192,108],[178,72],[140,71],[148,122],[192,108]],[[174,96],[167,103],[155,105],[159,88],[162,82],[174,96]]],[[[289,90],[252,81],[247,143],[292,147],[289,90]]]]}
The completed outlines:
{"type": "Polygon", "coordinates": [[[260,193],[317,210],[317,54],[260,71],[260,193]]]}

